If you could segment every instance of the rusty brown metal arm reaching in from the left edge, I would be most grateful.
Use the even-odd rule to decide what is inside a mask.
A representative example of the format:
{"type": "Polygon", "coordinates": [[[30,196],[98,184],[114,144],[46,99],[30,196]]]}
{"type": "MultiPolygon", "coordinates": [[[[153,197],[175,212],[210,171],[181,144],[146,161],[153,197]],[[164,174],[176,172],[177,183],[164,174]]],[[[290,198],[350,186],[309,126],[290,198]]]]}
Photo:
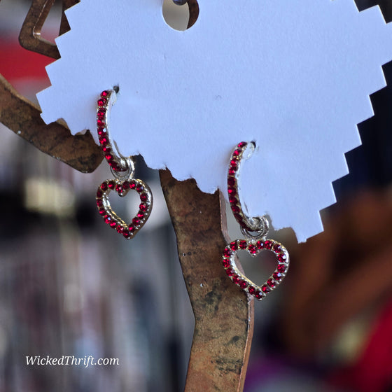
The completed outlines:
{"type": "Polygon", "coordinates": [[[59,123],[46,125],[38,106],[22,97],[0,75],[0,123],[34,147],[65,162],[79,172],[93,172],[102,161],[102,152],[90,132],[72,136],[59,123]]]}

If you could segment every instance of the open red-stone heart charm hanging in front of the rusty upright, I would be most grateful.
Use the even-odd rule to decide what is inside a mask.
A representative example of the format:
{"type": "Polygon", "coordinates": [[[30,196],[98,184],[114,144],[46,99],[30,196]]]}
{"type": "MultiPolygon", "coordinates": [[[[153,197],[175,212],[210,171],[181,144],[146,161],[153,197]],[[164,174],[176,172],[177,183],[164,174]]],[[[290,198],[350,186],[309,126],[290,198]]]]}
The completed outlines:
{"type": "Polygon", "coordinates": [[[225,247],[222,264],[226,274],[228,274],[233,283],[237,284],[246,293],[253,295],[258,300],[262,300],[265,295],[274,290],[283,281],[288,270],[289,257],[286,248],[273,239],[237,239],[225,247]],[[235,263],[235,253],[237,251],[247,251],[255,257],[264,250],[272,251],[276,255],[278,265],[274,273],[269,276],[269,279],[262,283],[261,286],[258,286],[239,271],[235,263]]]}

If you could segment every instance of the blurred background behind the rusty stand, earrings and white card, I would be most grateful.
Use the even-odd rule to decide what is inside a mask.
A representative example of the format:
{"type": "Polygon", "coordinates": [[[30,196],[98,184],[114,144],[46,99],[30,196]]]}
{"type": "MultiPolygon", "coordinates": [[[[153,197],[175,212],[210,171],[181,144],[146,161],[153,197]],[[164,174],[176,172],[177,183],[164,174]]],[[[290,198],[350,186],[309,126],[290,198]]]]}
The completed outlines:
{"type": "MultiPolygon", "coordinates": [[[[52,59],[18,43],[30,3],[0,1],[0,73],[36,102],[52,59]]],[[[51,41],[60,3],[42,31],[51,41]]],[[[356,3],[378,4],[392,20],[392,1],[356,3]]],[[[187,15],[165,0],[169,25],[185,29],[187,15]]],[[[392,63],[383,69],[388,87],[358,125],[363,146],[346,154],[350,174],[334,183],[325,232],[300,245],[291,230],[271,234],[292,261],[281,288],[255,303],[247,392],[392,391],[392,63]]],[[[95,207],[108,165],[80,174],[3,125],[0,137],[0,392],[183,391],[194,318],[158,173],[139,158],[154,209],[137,240],[125,241],[95,207]],[[119,358],[120,366],[26,364],[48,355],[119,358]]],[[[132,200],[112,204],[134,214],[132,200]]]]}

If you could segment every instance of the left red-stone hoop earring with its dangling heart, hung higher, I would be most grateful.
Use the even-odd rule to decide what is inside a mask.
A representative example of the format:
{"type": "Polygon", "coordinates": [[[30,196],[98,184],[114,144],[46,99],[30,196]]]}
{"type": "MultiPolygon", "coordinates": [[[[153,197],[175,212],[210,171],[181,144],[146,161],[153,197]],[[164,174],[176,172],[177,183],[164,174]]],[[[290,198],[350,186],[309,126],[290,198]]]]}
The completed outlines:
{"type": "Polygon", "coordinates": [[[146,223],[153,207],[153,195],[144,181],[134,179],[134,160],[125,158],[118,152],[116,143],[109,132],[109,110],[116,102],[116,91],[105,90],[97,101],[97,132],[99,144],[106,162],[109,163],[111,173],[115,177],[104,181],[97,190],[97,207],[105,223],[126,239],[131,239],[146,223]],[[109,193],[114,190],[120,197],[124,197],[130,190],[139,193],[139,211],[130,223],[125,223],[111,208],[109,193]]]}

